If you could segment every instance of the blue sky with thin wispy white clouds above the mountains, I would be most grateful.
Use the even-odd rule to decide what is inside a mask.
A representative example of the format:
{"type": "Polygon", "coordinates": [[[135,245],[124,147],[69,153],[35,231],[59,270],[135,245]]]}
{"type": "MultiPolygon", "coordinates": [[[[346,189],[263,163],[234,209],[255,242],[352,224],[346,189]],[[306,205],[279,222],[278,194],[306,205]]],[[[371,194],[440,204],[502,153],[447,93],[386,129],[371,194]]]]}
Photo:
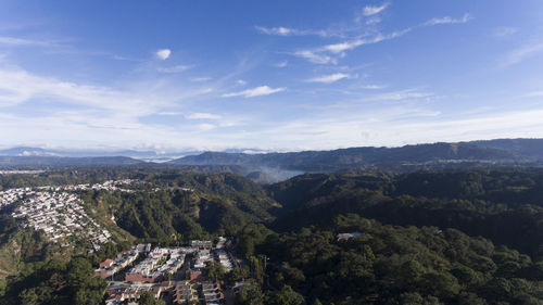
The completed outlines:
{"type": "Polygon", "coordinates": [[[0,0],[0,147],[543,138],[540,0],[0,0]]]}

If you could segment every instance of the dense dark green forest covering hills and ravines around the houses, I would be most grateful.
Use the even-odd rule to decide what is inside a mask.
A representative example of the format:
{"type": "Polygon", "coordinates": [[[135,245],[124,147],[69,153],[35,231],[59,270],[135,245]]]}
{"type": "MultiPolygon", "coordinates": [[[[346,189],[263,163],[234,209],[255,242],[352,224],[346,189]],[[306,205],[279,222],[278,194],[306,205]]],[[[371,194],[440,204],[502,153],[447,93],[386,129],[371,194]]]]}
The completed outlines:
{"type": "MultiPolygon", "coordinates": [[[[80,291],[70,280],[71,264],[85,274],[87,264],[134,242],[184,244],[220,234],[235,238],[248,265],[242,272],[252,278],[239,304],[543,304],[541,169],[352,169],[268,186],[228,173],[152,167],[0,178],[3,189],[138,180],[131,193],[78,192],[86,211],[114,232],[114,243],[91,255],[70,253],[75,263],[59,263],[39,232],[22,230],[2,211],[2,263],[17,265],[4,264],[0,304],[99,295],[102,283],[80,291]],[[7,251],[14,241],[23,250],[16,255],[7,251]],[[45,289],[55,279],[62,285],[45,289]]],[[[101,302],[91,298],[88,304],[101,302]]]]}

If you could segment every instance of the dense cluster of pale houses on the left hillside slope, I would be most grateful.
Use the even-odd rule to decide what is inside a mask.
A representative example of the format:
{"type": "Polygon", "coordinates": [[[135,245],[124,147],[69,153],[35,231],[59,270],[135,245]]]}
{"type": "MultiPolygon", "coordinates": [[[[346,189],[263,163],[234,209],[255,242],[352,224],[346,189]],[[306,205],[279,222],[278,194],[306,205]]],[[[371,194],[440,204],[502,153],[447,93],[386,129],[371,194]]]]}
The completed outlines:
{"type": "Polygon", "coordinates": [[[76,194],[28,191],[22,198],[11,215],[22,219],[23,227],[42,230],[52,242],[85,237],[98,250],[111,239],[111,233],[87,215],[76,194]]]}

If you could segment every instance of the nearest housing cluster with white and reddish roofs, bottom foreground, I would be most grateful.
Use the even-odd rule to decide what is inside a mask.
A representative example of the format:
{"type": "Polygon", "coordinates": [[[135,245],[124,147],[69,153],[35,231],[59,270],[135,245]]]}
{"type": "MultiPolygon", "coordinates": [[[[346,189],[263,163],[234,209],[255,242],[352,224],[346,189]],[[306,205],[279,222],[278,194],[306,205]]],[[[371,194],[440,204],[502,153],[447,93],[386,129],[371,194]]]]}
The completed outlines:
{"type": "MultiPolygon", "coordinates": [[[[100,267],[109,268],[125,262],[130,253],[146,253],[146,258],[131,267],[125,275],[125,281],[111,281],[108,305],[130,304],[138,302],[140,295],[150,292],[156,298],[167,298],[168,304],[225,304],[225,294],[219,282],[209,281],[203,269],[209,262],[219,262],[226,271],[237,262],[228,252],[230,241],[219,238],[215,247],[212,241],[192,241],[187,247],[155,247],[138,245],[114,259],[106,259],[100,267]],[[187,258],[188,257],[188,258],[187,258]],[[187,258],[187,259],[186,259],[187,258]],[[189,259],[190,258],[190,259],[189,259]],[[171,281],[173,279],[190,278],[171,281]]],[[[131,257],[131,256],[130,256],[131,257]]],[[[139,259],[138,259],[139,260],[139,259]]],[[[134,262],[134,260],[132,260],[134,262]]],[[[127,268],[124,266],[119,270],[127,268]]],[[[97,272],[101,272],[98,269],[97,272]]],[[[136,303],[135,303],[136,304],[136,303]]]]}

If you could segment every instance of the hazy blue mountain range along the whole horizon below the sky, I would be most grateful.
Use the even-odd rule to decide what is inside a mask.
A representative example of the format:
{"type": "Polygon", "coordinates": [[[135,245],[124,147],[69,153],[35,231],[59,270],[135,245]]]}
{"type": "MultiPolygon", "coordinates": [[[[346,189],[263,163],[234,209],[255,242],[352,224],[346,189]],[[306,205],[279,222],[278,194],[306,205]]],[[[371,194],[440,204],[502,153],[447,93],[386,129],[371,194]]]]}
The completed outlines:
{"type": "MultiPolygon", "coordinates": [[[[0,150],[0,167],[98,165],[236,166],[258,181],[278,181],[302,173],[331,173],[348,168],[409,171],[485,165],[543,164],[543,139],[497,139],[429,143],[399,148],[349,148],[330,151],[264,152],[68,151],[20,147],[0,150]],[[180,157],[179,157],[180,156],[180,157]]],[[[222,167],[224,168],[224,167],[222,167]]]]}

